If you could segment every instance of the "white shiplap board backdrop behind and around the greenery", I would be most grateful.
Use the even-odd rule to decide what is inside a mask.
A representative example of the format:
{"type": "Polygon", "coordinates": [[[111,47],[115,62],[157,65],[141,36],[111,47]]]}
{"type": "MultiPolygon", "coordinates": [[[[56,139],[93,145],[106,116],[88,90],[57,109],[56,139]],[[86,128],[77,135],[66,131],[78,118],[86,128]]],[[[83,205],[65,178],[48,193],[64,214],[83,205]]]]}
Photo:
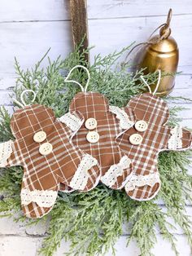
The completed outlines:
{"type": "MultiPolygon", "coordinates": [[[[72,50],[72,34],[68,0],[1,0],[0,1],[0,105],[11,108],[9,88],[15,82],[14,56],[23,68],[30,68],[51,46],[50,57],[65,57],[72,50]]],[[[172,36],[180,48],[176,88],[172,95],[192,97],[192,1],[191,0],[88,0],[89,42],[94,45],[91,56],[120,50],[133,41],[143,42],[166,20],[172,7],[172,36]]],[[[43,64],[46,66],[46,61],[43,64]]],[[[192,104],[182,104],[183,125],[192,127],[192,104]]],[[[192,173],[192,170],[190,170],[192,173]]],[[[164,206],[162,206],[164,207],[164,206]]],[[[192,215],[192,206],[187,205],[192,215]]],[[[137,245],[126,245],[126,232],[116,244],[117,255],[138,256],[137,245]]],[[[0,256],[37,255],[46,227],[26,228],[23,223],[0,218],[0,256]]],[[[175,232],[181,256],[191,251],[180,228],[175,232]]],[[[158,243],[154,254],[172,256],[168,242],[157,231],[158,243]]],[[[62,243],[57,255],[62,255],[68,244],[62,243]]],[[[109,253],[108,255],[111,255],[109,253]]]]}

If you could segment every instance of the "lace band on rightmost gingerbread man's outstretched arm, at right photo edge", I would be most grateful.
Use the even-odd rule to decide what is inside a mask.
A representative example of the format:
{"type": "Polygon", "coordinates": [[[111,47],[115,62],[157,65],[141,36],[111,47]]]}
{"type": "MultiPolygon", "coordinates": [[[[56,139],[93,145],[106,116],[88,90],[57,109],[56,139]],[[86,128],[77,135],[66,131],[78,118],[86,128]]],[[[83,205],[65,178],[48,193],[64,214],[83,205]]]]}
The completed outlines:
{"type": "Polygon", "coordinates": [[[170,131],[171,137],[168,139],[168,149],[176,150],[182,148],[182,128],[181,126],[175,126],[170,131]]]}

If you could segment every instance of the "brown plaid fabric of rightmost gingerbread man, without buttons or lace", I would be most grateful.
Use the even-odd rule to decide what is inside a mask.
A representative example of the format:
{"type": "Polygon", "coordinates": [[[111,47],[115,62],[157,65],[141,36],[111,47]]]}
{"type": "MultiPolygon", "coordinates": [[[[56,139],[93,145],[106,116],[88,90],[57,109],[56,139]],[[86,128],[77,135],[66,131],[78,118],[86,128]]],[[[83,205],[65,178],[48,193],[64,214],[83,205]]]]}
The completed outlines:
{"type": "MultiPolygon", "coordinates": [[[[125,130],[120,137],[117,138],[117,142],[120,144],[121,150],[123,150],[131,159],[133,164],[134,175],[149,175],[155,174],[157,170],[158,154],[161,151],[169,150],[168,141],[172,137],[172,127],[165,126],[168,121],[168,106],[163,99],[145,93],[137,95],[129,101],[129,104],[124,108],[125,112],[130,112],[130,108],[136,116],[135,121],[144,120],[148,124],[147,130],[144,132],[138,132],[134,126],[129,130],[125,130]],[[142,143],[139,145],[133,145],[129,142],[129,136],[133,134],[142,135],[142,143]]],[[[190,148],[192,143],[192,133],[188,130],[182,129],[181,147],[174,148],[175,150],[185,150],[190,148]]],[[[129,187],[128,182],[125,185],[129,187]]],[[[159,183],[155,183],[154,186],[142,186],[133,190],[128,190],[128,195],[138,201],[150,200],[153,198],[160,188],[159,183]]]]}

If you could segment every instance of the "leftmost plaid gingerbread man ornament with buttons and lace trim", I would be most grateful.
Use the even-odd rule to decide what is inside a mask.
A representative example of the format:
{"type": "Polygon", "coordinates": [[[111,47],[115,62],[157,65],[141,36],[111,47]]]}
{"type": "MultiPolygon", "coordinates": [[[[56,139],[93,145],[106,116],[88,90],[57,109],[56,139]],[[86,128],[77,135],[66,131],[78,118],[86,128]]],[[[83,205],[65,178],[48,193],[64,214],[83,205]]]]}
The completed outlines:
{"type": "Polygon", "coordinates": [[[0,144],[0,167],[24,167],[21,205],[27,217],[40,218],[51,210],[60,183],[81,191],[97,185],[98,161],[70,141],[72,126],[80,125],[78,120],[71,114],[69,129],[55,118],[52,109],[40,104],[25,106],[13,114],[15,141],[0,144]]]}

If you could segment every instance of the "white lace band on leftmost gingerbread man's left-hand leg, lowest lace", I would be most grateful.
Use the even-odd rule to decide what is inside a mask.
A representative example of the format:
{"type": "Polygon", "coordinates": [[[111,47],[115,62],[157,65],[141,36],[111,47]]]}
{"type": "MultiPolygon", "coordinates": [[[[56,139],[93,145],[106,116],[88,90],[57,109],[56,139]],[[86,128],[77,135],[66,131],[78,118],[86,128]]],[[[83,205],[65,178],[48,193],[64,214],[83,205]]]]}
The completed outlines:
{"type": "Polygon", "coordinates": [[[21,189],[21,205],[28,205],[32,202],[40,207],[51,207],[55,204],[58,192],[53,190],[33,190],[21,189]]]}

